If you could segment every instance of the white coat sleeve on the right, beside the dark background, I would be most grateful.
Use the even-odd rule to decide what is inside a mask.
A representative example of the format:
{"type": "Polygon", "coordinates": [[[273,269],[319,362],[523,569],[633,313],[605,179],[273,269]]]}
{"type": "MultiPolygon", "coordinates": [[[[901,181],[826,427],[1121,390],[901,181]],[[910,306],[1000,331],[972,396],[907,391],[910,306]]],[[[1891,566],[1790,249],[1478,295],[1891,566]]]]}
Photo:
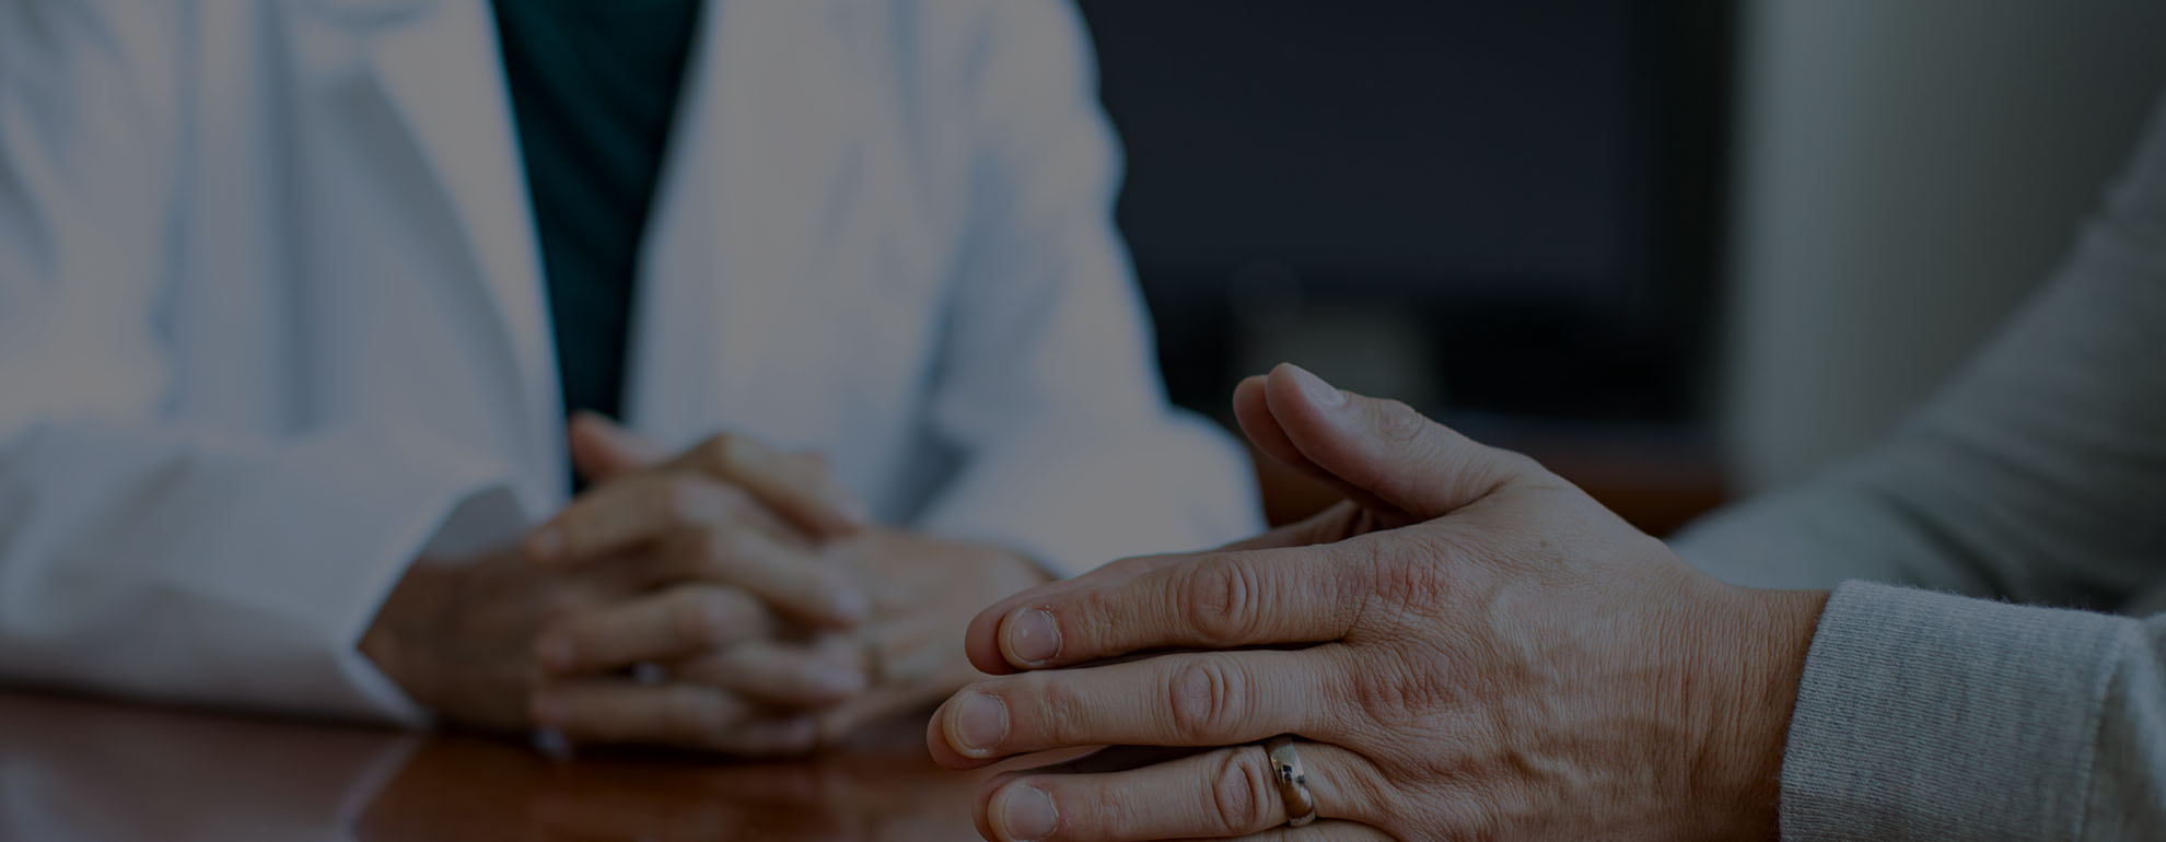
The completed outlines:
{"type": "Polygon", "coordinates": [[[1165,403],[1081,22],[1055,0],[981,9],[970,232],[931,396],[964,463],[918,526],[1057,574],[1254,532],[1245,457],[1165,403]]]}

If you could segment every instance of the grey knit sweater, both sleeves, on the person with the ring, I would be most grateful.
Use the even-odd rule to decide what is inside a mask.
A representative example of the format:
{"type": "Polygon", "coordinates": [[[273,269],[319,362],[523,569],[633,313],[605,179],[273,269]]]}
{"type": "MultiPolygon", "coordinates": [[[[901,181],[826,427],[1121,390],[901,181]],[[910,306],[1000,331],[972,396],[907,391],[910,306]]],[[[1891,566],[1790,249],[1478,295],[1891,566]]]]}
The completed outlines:
{"type": "Polygon", "coordinates": [[[2166,100],[2051,281],[1893,442],[1674,545],[1835,587],[1785,840],[2166,840],[2166,100]]]}

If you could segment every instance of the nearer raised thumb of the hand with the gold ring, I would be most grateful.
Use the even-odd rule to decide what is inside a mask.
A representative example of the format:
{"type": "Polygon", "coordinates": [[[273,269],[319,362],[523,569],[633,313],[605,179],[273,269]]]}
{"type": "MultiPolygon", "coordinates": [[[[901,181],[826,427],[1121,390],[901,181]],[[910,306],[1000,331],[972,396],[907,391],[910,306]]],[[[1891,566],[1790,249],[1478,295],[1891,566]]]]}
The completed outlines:
{"type": "Polygon", "coordinates": [[[1497,487],[1538,472],[1531,459],[1469,439],[1399,400],[1332,387],[1280,364],[1250,400],[1243,431],[1280,459],[1339,485],[1386,522],[1451,513],[1497,487]],[[1267,418],[1256,418],[1265,416],[1267,418]]]}

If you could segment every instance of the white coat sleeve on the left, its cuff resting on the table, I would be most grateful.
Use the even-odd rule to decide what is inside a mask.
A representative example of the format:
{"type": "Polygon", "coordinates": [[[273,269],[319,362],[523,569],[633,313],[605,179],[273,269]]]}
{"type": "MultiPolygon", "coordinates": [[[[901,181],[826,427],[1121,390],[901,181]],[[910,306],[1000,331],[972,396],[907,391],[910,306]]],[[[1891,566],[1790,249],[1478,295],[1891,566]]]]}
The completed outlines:
{"type": "Polygon", "coordinates": [[[162,416],[186,15],[0,0],[0,680],[416,721],[355,643],[509,498],[427,442],[162,416]]]}

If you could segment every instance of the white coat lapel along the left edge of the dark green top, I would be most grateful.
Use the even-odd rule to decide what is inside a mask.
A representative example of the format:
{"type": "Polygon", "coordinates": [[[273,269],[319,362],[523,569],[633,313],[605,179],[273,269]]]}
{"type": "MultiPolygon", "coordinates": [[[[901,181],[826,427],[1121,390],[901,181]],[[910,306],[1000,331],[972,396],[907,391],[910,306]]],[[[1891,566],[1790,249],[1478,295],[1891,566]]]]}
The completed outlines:
{"type": "Polygon", "coordinates": [[[496,19],[483,0],[327,0],[325,11],[360,39],[366,69],[459,219],[472,275],[468,266],[453,275],[479,275],[496,314],[487,329],[500,331],[483,344],[509,346],[524,403],[526,429],[516,433],[535,470],[522,491],[529,504],[554,504],[565,472],[561,390],[496,19]]]}

